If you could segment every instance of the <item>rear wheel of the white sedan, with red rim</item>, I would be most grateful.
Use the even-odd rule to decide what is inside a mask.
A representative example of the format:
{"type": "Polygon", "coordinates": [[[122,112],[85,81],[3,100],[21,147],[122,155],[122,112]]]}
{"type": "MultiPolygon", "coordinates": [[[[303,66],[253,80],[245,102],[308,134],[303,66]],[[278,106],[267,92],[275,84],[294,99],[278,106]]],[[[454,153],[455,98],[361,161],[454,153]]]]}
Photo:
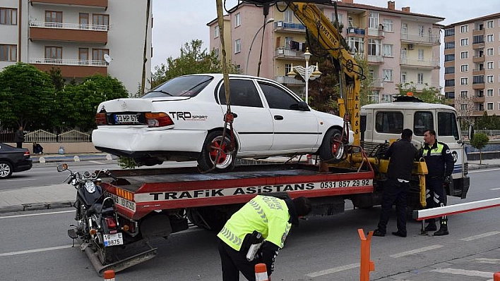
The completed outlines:
{"type": "Polygon", "coordinates": [[[203,148],[198,158],[198,166],[201,170],[213,169],[215,161],[217,161],[215,163],[215,172],[225,173],[232,170],[234,168],[234,156],[230,151],[230,142],[228,136],[222,141],[222,131],[210,132],[205,142],[203,142],[203,148]],[[218,149],[221,149],[220,155],[218,155],[218,149]]]}

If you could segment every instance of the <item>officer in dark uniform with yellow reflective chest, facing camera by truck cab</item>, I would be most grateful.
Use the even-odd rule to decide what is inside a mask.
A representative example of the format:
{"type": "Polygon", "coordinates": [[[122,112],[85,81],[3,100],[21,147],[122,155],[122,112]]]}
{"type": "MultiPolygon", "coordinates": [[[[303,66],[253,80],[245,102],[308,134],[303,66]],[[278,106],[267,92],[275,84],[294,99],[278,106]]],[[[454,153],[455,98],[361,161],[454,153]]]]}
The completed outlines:
{"type": "MultiPolygon", "coordinates": [[[[453,156],[448,145],[438,142],[436,131],[426,130],[424,132],[425,145],[422,147],[422,157],[427,164],[429,173],[425,177],[427,208],[446,206],[445,184],[451,183],[451,174],[453,173],[453,156]]],[[[448,235],[448,218],[442,216],[441,226],[436,231],[434,218],[429,219],[429,224],[425,231],[436,231],[434,236],[448,235]]]]}

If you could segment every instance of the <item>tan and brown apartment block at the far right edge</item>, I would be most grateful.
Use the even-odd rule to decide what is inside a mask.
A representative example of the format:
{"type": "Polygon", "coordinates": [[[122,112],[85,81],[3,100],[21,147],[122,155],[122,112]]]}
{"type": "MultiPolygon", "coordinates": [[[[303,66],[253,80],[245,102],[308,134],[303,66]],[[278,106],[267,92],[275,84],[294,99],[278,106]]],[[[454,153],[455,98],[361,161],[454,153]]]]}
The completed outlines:
{"type": "Polygon", "coordinates": [[[500,115],[500,13],[444,27],[444,92],[460,115],[500,115]]]}

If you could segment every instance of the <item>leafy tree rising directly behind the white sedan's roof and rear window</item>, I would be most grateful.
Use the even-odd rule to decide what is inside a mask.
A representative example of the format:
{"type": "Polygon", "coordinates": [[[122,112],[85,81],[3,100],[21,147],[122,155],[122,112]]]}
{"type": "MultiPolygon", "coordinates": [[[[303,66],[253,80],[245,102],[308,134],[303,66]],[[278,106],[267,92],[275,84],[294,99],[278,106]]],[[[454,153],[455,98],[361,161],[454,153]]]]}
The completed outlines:
{"type": "MultiPolygon", "coordinates": [[[[155,66],[155,71],[151,75],[151,88],[181,75],[196,73],[222,73],[222,65],[215,50],[208,52],[207,49],[201,50],[201,40],[191,40],[191,43],[184,43],[181,47],[181,56],[179,58],[167,58],[167,64],[164,63],[155,66]]],[[[229,65],[229,72],[236,73],[234,65],[229,65]]]]}

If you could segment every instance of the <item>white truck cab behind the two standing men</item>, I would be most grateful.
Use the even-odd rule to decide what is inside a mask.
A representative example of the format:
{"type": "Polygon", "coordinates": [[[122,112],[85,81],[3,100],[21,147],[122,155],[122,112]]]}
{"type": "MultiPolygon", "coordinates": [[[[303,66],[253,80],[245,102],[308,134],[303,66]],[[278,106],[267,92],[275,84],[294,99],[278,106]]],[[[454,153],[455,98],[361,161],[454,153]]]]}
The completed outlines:
{"type": "Polygon", "coordinates": [[[455,108],[427,104],[413,96],[396,96],[391,103],[362,106],[361,127],[362,147],[369,156],[379,156],[384,146],[399,139],[405,128],[413,131],[412,143],[417,149],[424,145],[424,132],[435,130],[436,139],[448,144],[453,155],[453,185],[446,192],[462,199],[467,195],[468,161],[455,108]]]}

